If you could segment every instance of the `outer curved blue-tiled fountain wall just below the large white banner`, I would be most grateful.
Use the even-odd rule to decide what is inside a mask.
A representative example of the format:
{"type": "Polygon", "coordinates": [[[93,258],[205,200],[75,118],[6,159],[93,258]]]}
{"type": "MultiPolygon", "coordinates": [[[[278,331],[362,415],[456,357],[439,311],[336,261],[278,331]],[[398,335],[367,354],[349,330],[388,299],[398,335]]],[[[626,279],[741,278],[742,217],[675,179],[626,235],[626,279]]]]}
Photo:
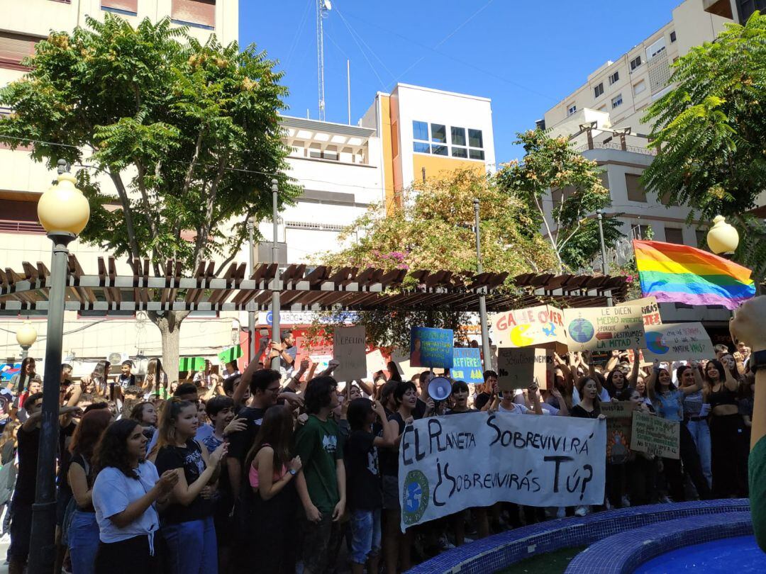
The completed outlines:
{"type": "MultiPolygon", "coordinates": [[[[508,530],[460,546],[408,570],[411,574],[486,574],[507,568],[522,559],[571,546],[590,545],[628,530],[687,517],[747,513],[746,498],[651,504],[586,517],[569,517],[508,530]]],[[[713,520],[721,520],[715,517],[713,520]]],[[[732,535],[733,536],[733,535],[732,535]]],[[[587,552],[587,551],[586,551],[587,552]]],[[[647,558],[648,559],[648,558],[647,558]]],[[[597,572],[591,566],[588,574],[597,572]]]]}

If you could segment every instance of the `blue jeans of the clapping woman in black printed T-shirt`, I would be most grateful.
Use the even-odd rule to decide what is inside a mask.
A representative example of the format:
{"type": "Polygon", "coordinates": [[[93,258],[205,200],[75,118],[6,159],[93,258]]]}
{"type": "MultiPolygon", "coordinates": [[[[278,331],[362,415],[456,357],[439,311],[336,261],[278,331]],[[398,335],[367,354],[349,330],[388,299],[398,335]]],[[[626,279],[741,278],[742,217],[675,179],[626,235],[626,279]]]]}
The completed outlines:
{"type": "Polygon", "coordinates": [[[162,527],[171,574],[218,574],[213,517],[162,527]]]}

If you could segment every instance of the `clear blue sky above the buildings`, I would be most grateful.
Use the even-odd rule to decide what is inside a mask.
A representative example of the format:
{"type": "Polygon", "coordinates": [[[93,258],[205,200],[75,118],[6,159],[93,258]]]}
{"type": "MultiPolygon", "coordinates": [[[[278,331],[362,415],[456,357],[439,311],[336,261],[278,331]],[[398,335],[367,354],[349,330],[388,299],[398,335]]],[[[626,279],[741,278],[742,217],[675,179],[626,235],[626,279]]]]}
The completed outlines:
{"type": "MultiPolygon", "coordinates": [[[[332,0],[325,20],[326,119],[355,123],[395,82],[493,100],[498,162],[522,154],[516,132],[669,22],[682,0],[332,0]]],[[[288,114],[317,112],[316,0],[240,0],[240,43],[280,60],[288,114]]]]}

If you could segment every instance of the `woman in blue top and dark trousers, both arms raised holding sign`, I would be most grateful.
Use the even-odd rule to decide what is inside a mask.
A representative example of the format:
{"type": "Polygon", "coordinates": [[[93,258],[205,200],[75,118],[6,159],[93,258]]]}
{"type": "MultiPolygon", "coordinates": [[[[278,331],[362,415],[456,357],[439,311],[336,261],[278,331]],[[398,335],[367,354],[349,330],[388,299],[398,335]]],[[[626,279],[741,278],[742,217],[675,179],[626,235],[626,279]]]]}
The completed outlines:
{"type": "Polygon", "coordinates": [[[647,381],[647,390],[649,398],[656,409],[658,416],[666,420],[677,421],[679,423],[679,454],[680,458],[663,458],[663,467],[665,468],[665,478],[668,481],[668,491],[670,497],[675,502],[686,501],[684,491],[683,468],[692,479],[694,488],[697,489],[700,499],[703,501],[712,498],[710,487],[705,475],[702,474],[702,465],[699,462],[699,454],[692,439],[692,433],[686,428],[683,422],[683,398],[686,395],[696,393],[702,388],[702,377],[699,374],[699,364],[692,362],[692,372],[694,373],[695,383],[693,385],[676,388],[673,379],[667,369],[660,368],[660,360],[655,359],[652,367],[652,374],[647,381]]]}

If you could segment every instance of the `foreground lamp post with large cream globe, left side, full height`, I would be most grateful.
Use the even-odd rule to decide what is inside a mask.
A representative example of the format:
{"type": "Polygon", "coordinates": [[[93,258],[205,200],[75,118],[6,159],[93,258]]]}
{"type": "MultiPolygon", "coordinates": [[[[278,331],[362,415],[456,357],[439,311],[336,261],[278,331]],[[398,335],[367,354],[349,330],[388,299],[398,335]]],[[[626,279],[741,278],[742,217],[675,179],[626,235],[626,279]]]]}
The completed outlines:
{"type": "Polygon", "coordinates": [[[38,219],[53,242],[51,277],[48,279],[47,341],[43,404],[38,449],[38,475],[32,505],[32,531],[29,553],[30,574],[53,572],[56,547],[56,452],[58,448],[59,386],[61,380],[61,342],[64,334],[64,291],[67,286],[67,246],[88,223],[90,206],[75,187],[67,162],[58,161],[56,184],[38,201],[38,219]]]}

